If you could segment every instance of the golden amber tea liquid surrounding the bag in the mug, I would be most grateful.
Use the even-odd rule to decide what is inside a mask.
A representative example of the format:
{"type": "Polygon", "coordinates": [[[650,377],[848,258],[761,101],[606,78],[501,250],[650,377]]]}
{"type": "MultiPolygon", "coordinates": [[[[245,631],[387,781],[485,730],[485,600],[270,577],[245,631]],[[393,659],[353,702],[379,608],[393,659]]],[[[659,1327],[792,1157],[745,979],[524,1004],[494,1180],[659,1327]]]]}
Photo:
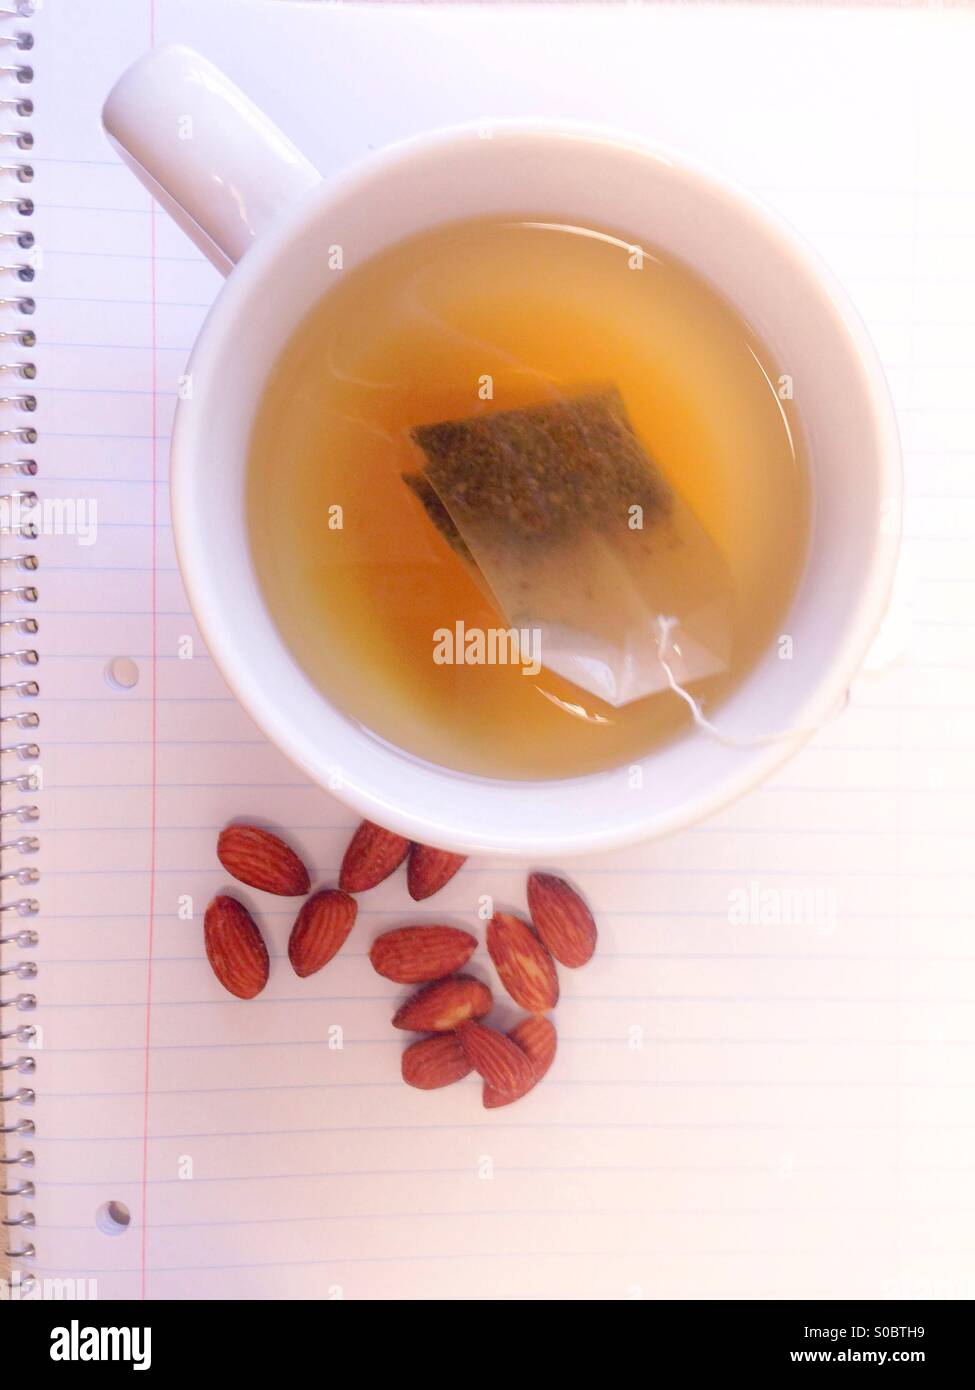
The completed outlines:
{"type": "Polygon", "coordinates": [[[381,738],[490,777],[619,766],[686,728],[670,692],[613,709],[490,639],[465,663],[505,620],[402,481],[417,425],[615,385],[730,571],[732,662],[693,691],[714,714],[775,638],[808,531],[779,367],[734,310],[651,247],[527,221],[334,274],[275,364],[248,478],[259,578],[309,677],[381,738]]]}

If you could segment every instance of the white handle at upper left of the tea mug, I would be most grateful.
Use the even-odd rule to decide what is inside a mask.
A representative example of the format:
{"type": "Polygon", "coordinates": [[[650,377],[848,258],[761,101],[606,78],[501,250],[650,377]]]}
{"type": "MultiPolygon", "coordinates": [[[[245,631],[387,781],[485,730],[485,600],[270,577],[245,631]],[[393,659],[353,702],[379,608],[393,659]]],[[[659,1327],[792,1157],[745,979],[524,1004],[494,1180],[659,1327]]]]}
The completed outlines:
{"type": "Polygon", "coordinates": [[[127,68],[102,110],[108,139],[224,275],[319,171],[213,63],[181,44],[127,68]]]}

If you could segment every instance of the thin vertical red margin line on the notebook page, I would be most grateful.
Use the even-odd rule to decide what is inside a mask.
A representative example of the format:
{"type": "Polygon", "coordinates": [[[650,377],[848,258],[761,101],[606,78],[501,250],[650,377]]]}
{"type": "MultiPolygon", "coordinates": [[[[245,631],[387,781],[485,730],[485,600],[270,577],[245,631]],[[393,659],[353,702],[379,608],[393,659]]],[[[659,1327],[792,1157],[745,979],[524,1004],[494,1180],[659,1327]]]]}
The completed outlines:
{"type": "MultiPolygon", "coordinates": [[[[156,3],[149,0],[149,46],[156,43],[156,3]]],[[[150,770],[149,770],[149,927],[146,935],[146,1044],[145,1044],[145,1069],[143,1069],[143,1099],[142,1099],[142,1218],[139,1222],[140,1230],[140,1248],[139,1248],[139,1297],[146,1297],[146,1223],[147,1223],[147,1207],[149,1207],[149,1074],[150,1074],[150,1041],[152,1041],[152,1008],[153,1008],[153,929],[156,926],[156,795],[157,795],[157,748],[156,748],[156,734],[157,734],[157,662],[156,662],[156,644],[157,644],[157,609],[159,609],[159,594],[156,582],[156,563],[159,559],[159,535],[156,530],[157,524],[157,482],[159,482],[159,443],[156,435],[159,432],[159,410],[157,410],[157,375],[156,375],[156,357],[157,357],[157,334],[156,334],[156,204],[153,199],[149,199],[149,302],[150,302],[150,459],[152,459],[152,571],[149,578],[150,588],[150,703],[149,703],[149,737],[150,737],[150,770]]]]}

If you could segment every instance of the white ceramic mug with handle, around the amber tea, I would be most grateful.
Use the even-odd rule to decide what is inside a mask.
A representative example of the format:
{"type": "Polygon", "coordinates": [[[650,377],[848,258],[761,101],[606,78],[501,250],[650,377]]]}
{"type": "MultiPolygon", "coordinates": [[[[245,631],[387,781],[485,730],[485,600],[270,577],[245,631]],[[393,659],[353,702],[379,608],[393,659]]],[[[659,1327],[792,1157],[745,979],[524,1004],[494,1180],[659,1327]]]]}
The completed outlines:
{"type": "MultiPolygon", "coordinates": [[[[314,95],[309,95],[310,100],[314,95]]],[[[841,706],[885,613],[899,546],[900,448],[872,343],[800,238],[747,193],[612,131],[502,121],[434,131],[321,178],[206,58],[156,49],[118,81],[104,125],[125,161],[228,278],[193,349],[172,432],[172,524],[204,641],[284,752],[362,815],[427,844],[526,858],[606,849],[688,826],[754,787],[841,706]],[[725,746],[688,728],[643,762],[501,781],[380,741],[305,676],[260,592],[245,516],[264,382],[309,307],[394,242],[459,218],[524,214],[623,229],[693,267],[796,384],[811,468],[805,569],[768,651],[720,705],[725,746]],[[887,524],[885,524],[887,518],[887,524]],[[894,518],[894,524],[890,524],[894,518]]],[[[287,485],[287,480],[282,480],[287,485]]],[[[676,696],[675,696],[676,698],[676,696]]]]}

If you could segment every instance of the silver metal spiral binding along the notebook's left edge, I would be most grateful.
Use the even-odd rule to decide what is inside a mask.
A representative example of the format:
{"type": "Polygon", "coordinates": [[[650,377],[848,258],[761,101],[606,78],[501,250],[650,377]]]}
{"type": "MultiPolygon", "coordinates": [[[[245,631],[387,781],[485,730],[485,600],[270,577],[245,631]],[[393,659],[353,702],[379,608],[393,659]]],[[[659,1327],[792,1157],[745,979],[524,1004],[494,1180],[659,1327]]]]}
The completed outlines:
{"type": "Polygon", "coordinates": [[[32,457],[18,457],[24,446],[36,442],[38,431],[18,423],[17,414],[38,409],[33,391],[29,386],[19,389],[21,382],[35,379],[38,370],[22,356],[36,343],[33,329],[11,327],[3,318],[18,316],[22,324],[35,310],[32,295],[19,292],[19,286],[31,285],[36,274],[31,259],[21,257],[35,242],[25,225],[33,215],[33,200],[25,193],[26,185],[33,182],[33,165],[21,157],[33,149],[33,133],[22,125],[33,115],[33,101],[24,95],[24,88],[33,81],[33,68],[24,61],[24,54],[33,49],[33,35],[24,21],[33,10],[31,0],[7,0],[0,6],[0,29],[4,31],[0,32],[0,510],[4,517],[0,545],[13,548],[11,553],[0,555],[0,1198],[7,1201],[0,1219],[7,1229],[0,1252],[18,1262],[21,1294],[35,1287],[33,1276],[19,1272],[19,1262],[36,1254],[28,1234],[35,1226],[29,1209],[35,1184],[25,1172],[33,1168],[33,1152],[25,1141],[35,1129],[33,1120],[24,1113],[35,1101],[28,1083],[36,1070],[36,1058],[21,1054],[19,1048],[29,1049],[36,1037],[36,1027],[22,1015],[38,1006],[29,988],[38,965],[29,959],[29,952],[39,937],[33,927],[19,926],[17,919],[33,917],[40,910],[29,891],[39,873],[22,862],[22,856],[38,849],[38,837],[29,830],[39,817],[31,799],[39,790],[31,763],[40,756],[40,748],[29,731],[38,727],[39,717],[35,710],[25,709],[24,702],[40,691],[28,674],[40,657],[33,645],[38,620],[24,612],[38,602],[31,575],[39,562],[22,545],[38,534],[31,518],[38,493],[25,481],[36,475],[38,464],[32,457]],[[13,518],[11,524],[6,524],[7,518],[13,518]],[[14,805],[8,805],[11,799],[14,805]],[[21,1079],[25,1084],[18,1084],[21,1079]]]}

